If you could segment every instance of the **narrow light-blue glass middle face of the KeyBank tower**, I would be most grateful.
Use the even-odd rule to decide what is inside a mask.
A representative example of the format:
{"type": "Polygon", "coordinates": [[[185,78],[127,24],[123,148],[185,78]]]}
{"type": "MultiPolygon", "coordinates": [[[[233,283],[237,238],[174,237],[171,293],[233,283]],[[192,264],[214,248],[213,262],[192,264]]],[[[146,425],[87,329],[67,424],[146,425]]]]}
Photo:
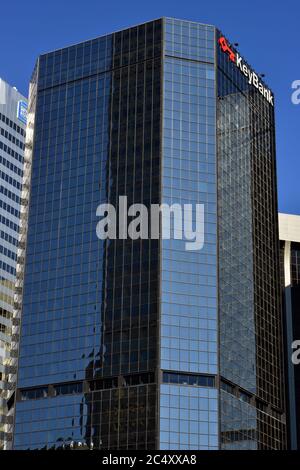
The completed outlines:
{"type": "MultiPolygon", "coordinates": [[[[184,239],[162,241],[160,366],[178,373],[218,373],[214,34],[206,25],[165,22],[162,202],[205,207],[202,250],[187,251],[184,239]]],[[[161,448],[217,448],[217,404],[217,390],[161,385],[161,448]],[[203,405],[208,396],[212,414],[203,405]]]]}

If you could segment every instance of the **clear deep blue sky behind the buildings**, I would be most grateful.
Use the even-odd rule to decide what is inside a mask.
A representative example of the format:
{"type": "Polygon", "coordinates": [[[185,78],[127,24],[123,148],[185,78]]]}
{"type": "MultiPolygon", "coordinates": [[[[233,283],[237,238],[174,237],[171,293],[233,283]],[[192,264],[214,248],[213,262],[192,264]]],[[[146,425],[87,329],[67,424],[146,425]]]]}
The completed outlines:
{"type": "Polygon", "coordinates": [[[217,25],[276,96],[279,209],[300,214],[300,2],[285,0],[12,0],[2,2],[0,77],[27,94],[36,57],[161,16],[217,25]]]}

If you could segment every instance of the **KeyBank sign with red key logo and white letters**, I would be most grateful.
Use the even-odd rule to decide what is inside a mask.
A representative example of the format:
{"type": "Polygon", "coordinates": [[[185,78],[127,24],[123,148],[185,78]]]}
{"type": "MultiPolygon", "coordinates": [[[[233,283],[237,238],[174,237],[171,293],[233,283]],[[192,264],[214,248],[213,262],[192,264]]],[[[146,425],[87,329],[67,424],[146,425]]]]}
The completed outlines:
{"type": "Polygon", "coordinates": [[[268,100],[268,102],[274,106],[274,96],[268,88],[266,88],[259,80],[258,75],[251,70],[243,58],[229,46],[227,39],[222,36],[219,39],[219,45],[225,54],[228,54],[229,59],[240,69],[240,71],[248,78],[249,85],[255,86],[259,92],[268,100]]]}

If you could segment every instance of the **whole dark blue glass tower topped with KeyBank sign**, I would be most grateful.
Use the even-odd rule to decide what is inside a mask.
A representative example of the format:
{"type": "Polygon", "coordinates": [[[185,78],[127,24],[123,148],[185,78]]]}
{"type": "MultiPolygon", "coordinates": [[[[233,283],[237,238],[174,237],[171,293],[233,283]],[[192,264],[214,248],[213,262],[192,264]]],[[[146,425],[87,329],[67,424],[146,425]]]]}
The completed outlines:
{"type": "Polygon", "coordinates": [[[40,56],[31,87],[14,447],[284,448],[271,91],[165,18],[40,56]],[[123,195],[203,204],[204,247],[99,240],[123,195]]]}

